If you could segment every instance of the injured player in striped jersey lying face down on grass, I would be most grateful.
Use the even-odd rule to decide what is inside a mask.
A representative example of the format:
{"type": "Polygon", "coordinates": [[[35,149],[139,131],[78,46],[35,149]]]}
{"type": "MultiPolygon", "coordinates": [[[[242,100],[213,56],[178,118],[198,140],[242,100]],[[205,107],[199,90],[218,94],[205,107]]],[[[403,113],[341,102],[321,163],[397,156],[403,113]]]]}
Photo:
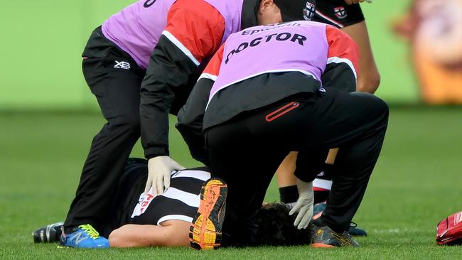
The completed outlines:
{"type": "MultiPolygon", "coordinates": [[[[119,182],[117,195],[114,197],[112,213],[102,230],[102,237],[109,238],[110,247],[181,247],[190,245],[190,225],[198,217],[201,200],[201,188],[210,179],[208,168],[194,168],[173,171],[171,187],[165,193],[153,196],[151,192],[144,194],[144,183],[147,177],[147,163],[143,159],[131,158],[127,161],[124,174],[119,182]],[[197,214],[197,215],[196,215],[197,214]]],[[[208,183],[212,183],[209,181],[208,183]]],[[[218,185],[222,190],[223,185],[218,185]]],[[[205,186],[208,188],[208,186],[205,186]]],[[[209,187],[213,193],[213,188],[209,187]]],[[[226,190],[224,190],[226,192],[226,190]]],[[[210,193],[211,194],[211,193],[210,193]]],[[[225,194],[223,197],[225,197],[225,194]]],[[[225,200],[215,201],[215,207],[225,208],[225,200]]],[[[206,205],[204,206],[206,207],[206,205]]],[[[294,227],[295,216],[289,216],[289,207],[279,203],[262,206],[255,222],[258,225],[258,239],[252,246],[259,245],[296,245],[310,244],[309,229],[298,230],[294,227]]],[[[222,215],[225,212],[219,212],[222,215]]],[[[197,223],[197,222],[196,222],[197,223]]],[[[58,242],[62,223],[50,224],[37,229],[33,233],[34,242],[58,242]]],[[[91,229],[82,225],[80,229],[91,229]]],[[[215,227],[220,229],[220,227],[215,227]]],[[[91,230],[90,234],[96,233],[91,230]]],[[[191,230],[193,233],[193,230],[191,230]]],[[[95,236],[97,237],[97,236],[95,236]]],[[[75,237],[78,243],[85,243],[92,237],[75,237]]],[[[238,238],[230,239],[226,246],[243,246],[238,238]]],[[[200,247],[198,244],[191,244],[200,247]]],[[[213,242],[202,244],[201,249],[213,249],[220,245],[220,237],[213,242]]],[[[249,246],[249,244],[245,244],[249,246]]]]}

